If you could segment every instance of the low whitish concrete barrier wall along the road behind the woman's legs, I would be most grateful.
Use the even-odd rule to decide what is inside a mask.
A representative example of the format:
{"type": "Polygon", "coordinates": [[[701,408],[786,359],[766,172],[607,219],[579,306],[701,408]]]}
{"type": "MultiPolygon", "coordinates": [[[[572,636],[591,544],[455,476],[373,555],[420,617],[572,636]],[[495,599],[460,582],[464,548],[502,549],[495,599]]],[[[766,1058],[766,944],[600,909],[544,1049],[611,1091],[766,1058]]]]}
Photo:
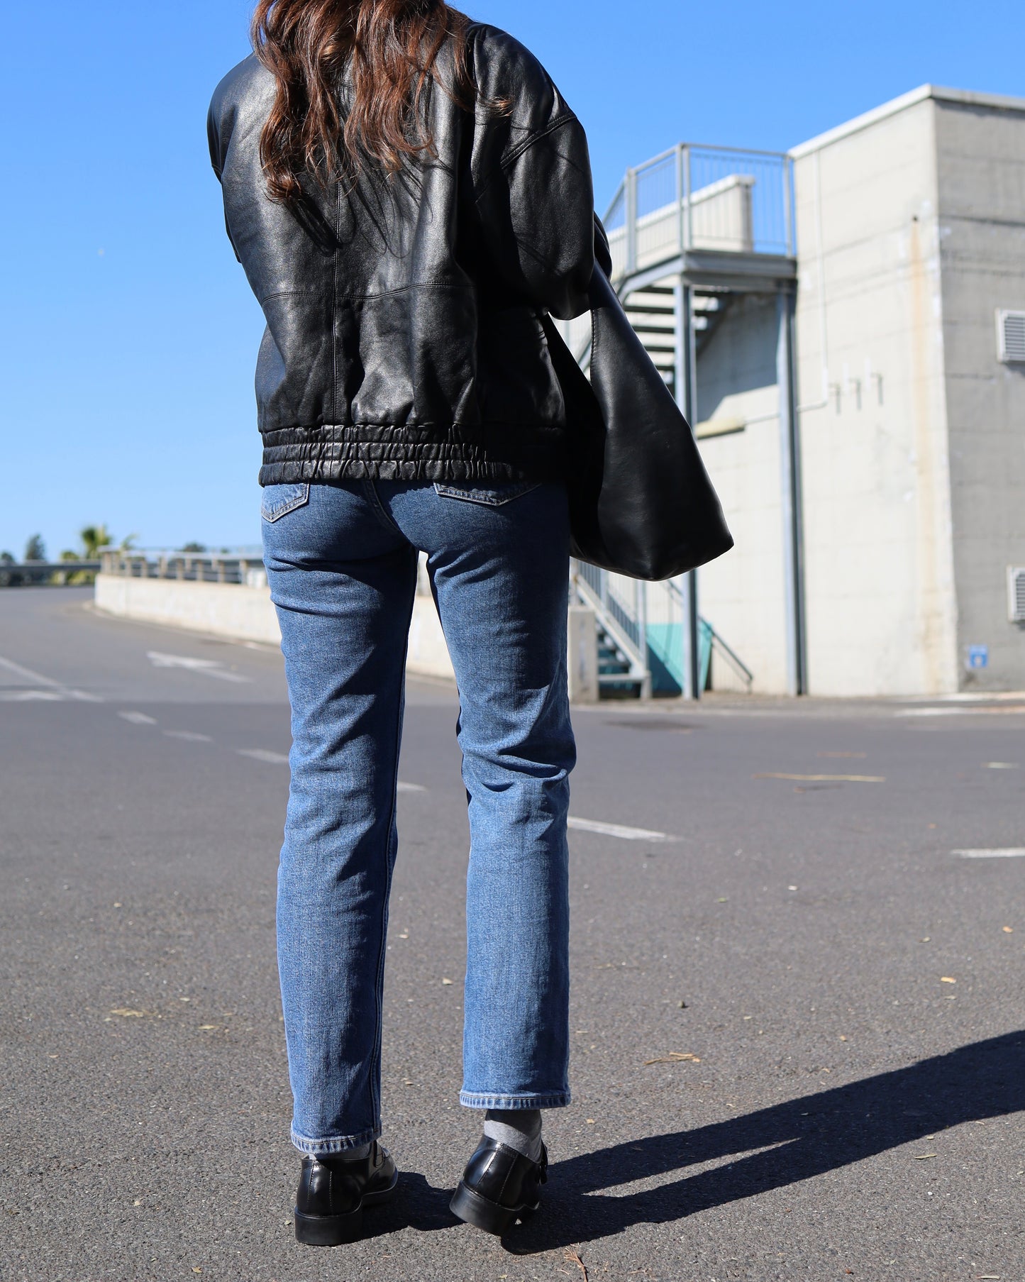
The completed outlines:
{"type": "MultiPolygon", "coordinates": [[[[266,587],[97,574],[95,601],[97,610],[118,618],[163,623],[233,641],[281,645],[278,618],[266,587]]],[[[455,679],[434,601],[429,596],[418,596],[414,603],[406,669],[422,677],[455,679]]]]}

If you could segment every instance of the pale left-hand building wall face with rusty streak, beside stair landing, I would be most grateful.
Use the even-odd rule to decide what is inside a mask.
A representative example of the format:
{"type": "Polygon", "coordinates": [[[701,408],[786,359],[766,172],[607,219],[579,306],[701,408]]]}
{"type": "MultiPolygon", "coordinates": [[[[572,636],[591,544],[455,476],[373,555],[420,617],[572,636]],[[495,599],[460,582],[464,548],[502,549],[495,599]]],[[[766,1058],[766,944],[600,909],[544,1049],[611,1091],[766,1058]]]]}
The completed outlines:
{"type": "Polygon", "coordinates": [[[810,691],[957,688],[934,104],[796,158],[810,691]]]}

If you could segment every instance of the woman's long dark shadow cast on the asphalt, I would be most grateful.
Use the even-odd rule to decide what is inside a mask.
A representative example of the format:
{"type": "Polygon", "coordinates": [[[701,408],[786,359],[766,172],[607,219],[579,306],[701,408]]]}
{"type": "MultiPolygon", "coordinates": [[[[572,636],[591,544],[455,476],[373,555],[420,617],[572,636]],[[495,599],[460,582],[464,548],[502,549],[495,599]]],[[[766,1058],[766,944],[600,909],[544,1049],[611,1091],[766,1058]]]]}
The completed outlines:
{"type": "MultiPolygon", "coordinates": [[[[710,1206],[810,1179],[962,1122],[1025,1109],[1025,1029],[974,1042],[908,1068],[805,1095],[696,1131],[632,1140],[552,1167],[541,1213],[518,1226],[504,1245],[518,1255],[621,1233],[633,1224],[662,1224],[710,1206]],[[752,1150],[762,1150],[752,1153],[752,1150]],[[739,1156],[682,1176],[657,1188],[602,1195],[634,1181],[739,1156]]],[[[460,1222],[448,1210],[450,1188],[409,1173],[391,1206],[366,1219],[366,1236],[415,1228],[430,1232],[460,1222]]]]}

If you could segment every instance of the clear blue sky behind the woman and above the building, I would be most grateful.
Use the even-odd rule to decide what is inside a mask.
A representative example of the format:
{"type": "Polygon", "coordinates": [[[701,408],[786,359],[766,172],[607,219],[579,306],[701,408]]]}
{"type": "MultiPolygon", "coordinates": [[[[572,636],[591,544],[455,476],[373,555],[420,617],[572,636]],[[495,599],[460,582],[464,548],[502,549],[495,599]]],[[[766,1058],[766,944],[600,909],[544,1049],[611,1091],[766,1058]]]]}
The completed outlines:
{"type": "MultiPolygon", "coordinates": [[[[259,310],[205,115],[249,0],[13,5],[0,549],[106,522],[142,546],[259,540],[259,310]]],[[[1025,8],[951,0],[479,0],[584,122],[605,206],[680,138],[785,150],[926,81],[1025,96],[1025,8]]]]}

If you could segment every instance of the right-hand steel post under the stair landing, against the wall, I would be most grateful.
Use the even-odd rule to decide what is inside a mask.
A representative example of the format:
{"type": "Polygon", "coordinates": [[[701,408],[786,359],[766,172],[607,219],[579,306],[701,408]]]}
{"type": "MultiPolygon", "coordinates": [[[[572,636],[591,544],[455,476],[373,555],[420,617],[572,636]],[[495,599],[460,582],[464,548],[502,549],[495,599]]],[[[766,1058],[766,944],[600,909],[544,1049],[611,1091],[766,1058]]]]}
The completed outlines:
{"type": "Polygon", "coordinates": [[[780,506],[783,509],[783,586],[787,610],[787,690],[806,695],[807,644],[805,631],[805,538],[801,500],[801,437],[797,423],[794,374],[794,290],[776,294],[779,335],[776,383],[779,386],[780,506]]]}

